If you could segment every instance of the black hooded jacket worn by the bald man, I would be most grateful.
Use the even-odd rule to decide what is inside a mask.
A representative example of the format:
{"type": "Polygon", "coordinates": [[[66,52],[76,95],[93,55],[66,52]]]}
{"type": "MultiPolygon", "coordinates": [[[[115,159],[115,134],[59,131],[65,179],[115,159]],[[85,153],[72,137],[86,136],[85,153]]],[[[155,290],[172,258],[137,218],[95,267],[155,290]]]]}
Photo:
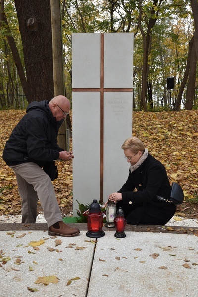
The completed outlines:
{"type": "Polygon", "coordinates": [[[42,167],[59,158],[63,149],[57,145],[57,135],[62,121],[56,121],[48,103],[35,101],[28,105],[6,142],[3,159],[7,165],[34,162],[42,167]]]}

